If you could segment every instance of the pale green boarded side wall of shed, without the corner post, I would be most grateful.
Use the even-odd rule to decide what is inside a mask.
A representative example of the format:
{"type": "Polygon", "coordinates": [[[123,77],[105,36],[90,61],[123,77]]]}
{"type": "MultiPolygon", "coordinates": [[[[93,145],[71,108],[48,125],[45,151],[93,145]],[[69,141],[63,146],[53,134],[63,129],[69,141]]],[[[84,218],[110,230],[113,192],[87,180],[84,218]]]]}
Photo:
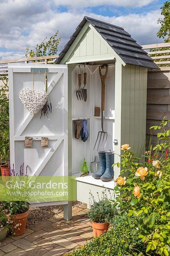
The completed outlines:
{"type": "Polygon", "coordinates": [[[140,155],[145,147],[147,68],[122,66],[121,144],[140,155]]]}

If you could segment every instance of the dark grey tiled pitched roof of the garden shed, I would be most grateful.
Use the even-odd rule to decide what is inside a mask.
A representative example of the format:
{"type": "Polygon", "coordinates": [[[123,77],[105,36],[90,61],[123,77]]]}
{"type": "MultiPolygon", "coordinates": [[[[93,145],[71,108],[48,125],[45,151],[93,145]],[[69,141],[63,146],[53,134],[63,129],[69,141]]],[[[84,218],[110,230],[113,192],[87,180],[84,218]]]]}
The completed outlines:
{"type": "Polygon", "coordinates": [[[111,48],[120,56],[125,64],[159,69],[159,67],[153,62],[152,58],[148,56],[147,52],[142,49],[142,46],[137,44],[136,40],[134,40],[123,28],[86,16],[80,22],[76,28],[76,31],[72,34],[70,40],[64,46],[64,49],[60,52],[59,57],[55,60],[55,64],[60,64],[71,44],[74,42],[87,21],[96,29],[107,44],[110,45],[111,48]]]}

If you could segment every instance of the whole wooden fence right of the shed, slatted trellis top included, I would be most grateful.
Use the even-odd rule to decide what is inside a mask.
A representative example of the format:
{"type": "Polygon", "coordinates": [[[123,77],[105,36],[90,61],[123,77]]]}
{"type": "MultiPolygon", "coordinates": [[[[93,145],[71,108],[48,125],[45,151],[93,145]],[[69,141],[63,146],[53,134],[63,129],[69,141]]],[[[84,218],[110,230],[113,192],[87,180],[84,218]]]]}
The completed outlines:
{"type": "MultiPolygon", "coordinates": [[[[143,45],[143,49],[154,48],[158,51],[153,52],[152,50],[148,54],[157,55],[152,58],[156,64],[159,64],[160,71],[148,70],[146,137],[151,134],[150,126],[159,124],[164,116],[166,116],[166,120],[170,119],[170,43],[143,45]],[[159,50],[160,47],[165,49],[159,50]],[[163,64],[166,64],[166,67],[162,67],[163,64]]],[[[167,123],[167,129],[169,128],[170,123],[167,123]]],[[[152,144],[155,145],[158,131],[152,130],[152,132],[152,144]]]]}

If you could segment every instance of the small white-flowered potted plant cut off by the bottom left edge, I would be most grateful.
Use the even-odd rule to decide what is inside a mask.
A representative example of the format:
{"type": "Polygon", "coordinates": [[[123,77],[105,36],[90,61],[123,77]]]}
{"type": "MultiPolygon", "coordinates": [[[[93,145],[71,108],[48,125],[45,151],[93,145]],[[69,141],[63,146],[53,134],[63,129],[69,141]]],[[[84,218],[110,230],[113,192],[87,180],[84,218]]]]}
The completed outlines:
{"type": "Polygon", "coordinates": [[[9,214],[6,214],[5,211],[0,210],[0,242],[2,242],[10,228],[10,217],[9,214]]]}

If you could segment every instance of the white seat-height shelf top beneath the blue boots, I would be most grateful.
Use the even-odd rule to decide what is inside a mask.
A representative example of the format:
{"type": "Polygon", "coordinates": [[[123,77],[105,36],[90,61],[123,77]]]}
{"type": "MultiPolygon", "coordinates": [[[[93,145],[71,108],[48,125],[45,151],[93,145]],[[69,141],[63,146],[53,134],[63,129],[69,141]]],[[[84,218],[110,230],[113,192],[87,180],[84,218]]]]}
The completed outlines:
{"type": "Polygon", "coordinates": [[[81,181],[81,182],[84,182],[84,183],[88,183],[88,184],[92,184],[92,185],[100,186],[100,187],[104,186],[104,188],[109,188],[109,189],[114,188],[114,185],[115,185],[114,184],[114,178],[110,181],[102,181],[100,179],[94,179],[92,177],[93,173],[91,173],[91,172],[89,172],[89,175],[85,176],[85,177],[80,177],[80,174],[82,174],[82,172],[75,173],[72,176],[76,177],[77,181],[81,181]]]}

